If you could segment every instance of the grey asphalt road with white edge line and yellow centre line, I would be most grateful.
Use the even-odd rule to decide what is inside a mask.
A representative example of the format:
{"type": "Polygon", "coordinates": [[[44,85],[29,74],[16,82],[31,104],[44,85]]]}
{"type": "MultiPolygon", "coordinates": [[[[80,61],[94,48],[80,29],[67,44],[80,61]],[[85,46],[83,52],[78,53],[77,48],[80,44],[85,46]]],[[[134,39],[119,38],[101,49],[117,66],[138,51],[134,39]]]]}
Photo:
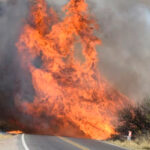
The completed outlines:
{"type": "Polygon", "coordinates": [[[102,141],[22,134],[17,137],[17,150],[125,150],[102,141]]]}

